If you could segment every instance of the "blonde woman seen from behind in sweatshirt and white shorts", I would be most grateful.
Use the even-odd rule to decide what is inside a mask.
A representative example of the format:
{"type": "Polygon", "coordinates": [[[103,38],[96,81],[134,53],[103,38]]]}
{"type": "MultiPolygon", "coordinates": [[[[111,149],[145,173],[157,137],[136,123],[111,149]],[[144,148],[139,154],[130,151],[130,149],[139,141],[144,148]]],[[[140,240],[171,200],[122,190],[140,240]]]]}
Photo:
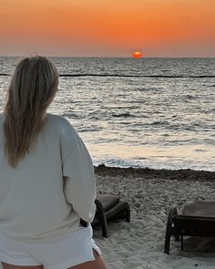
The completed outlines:
{"type": "Polygon", "coordinates": [[[92,160],[67,119],[47,114],[58,72],[46,57],[15,68],[0,115],[0,261],[4,269],[105,269],[89,223],[92,160]]]}

